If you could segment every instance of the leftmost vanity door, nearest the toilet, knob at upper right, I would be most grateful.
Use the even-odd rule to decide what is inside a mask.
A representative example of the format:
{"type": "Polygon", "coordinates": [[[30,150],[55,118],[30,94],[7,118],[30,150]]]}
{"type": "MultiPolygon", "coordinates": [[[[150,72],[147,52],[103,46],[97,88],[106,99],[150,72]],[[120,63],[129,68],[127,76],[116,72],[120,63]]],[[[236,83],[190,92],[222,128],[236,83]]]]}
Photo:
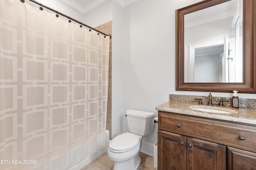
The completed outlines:
{"type": "Polygon", "coordinates": [[[158,130],[158,170],[186,170],[186,137],[158,130]]]}

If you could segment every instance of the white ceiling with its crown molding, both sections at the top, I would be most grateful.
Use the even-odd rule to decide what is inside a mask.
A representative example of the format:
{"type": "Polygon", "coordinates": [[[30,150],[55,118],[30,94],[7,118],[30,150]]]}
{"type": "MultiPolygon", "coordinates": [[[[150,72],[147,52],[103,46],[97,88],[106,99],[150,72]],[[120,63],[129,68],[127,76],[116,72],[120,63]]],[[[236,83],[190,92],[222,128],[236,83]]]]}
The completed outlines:
{"type": "MultiPolygon", "coordinates": [[[[108,2],[109,0],[59,0],[60,2],[70,6],[71,8],[77,10],[82,14],[86,14],[90,12],[94,8],[108,2]]],[[[114,0],[116,1],[122,8],[137,2],[138,0],[114,0]]]]}

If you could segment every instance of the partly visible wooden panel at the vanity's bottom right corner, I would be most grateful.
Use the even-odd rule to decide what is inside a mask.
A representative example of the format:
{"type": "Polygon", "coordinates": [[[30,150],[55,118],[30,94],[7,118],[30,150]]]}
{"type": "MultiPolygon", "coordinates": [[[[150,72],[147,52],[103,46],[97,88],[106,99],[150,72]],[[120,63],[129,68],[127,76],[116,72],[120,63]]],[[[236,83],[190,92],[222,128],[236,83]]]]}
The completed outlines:
{"type": "Polygon", "coordinates": [[[256,153],[228,147],[228,170],[256,170],[256,153]]]}

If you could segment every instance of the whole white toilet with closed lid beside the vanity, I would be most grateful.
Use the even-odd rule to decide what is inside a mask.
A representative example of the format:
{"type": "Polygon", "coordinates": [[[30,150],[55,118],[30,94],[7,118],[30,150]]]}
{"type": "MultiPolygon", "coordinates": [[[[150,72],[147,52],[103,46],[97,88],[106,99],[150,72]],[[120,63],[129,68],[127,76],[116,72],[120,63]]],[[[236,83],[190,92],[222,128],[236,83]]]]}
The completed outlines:
{"type": "Polygon", "coordinates": [[[116,136],[109,144],[108,156],[114,161],[114,170],[137,170],[140,165],[140,139],[154,130],[155,113],[128,109],[130,132],[116,136]]]}

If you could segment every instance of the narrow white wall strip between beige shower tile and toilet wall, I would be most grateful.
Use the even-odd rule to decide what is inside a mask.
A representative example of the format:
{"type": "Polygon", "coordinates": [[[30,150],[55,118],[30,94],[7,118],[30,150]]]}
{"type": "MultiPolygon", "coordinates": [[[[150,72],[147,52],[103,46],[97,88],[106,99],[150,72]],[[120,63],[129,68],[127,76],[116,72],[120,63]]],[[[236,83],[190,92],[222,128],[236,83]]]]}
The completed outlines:
{"type": "Polygon", "coordinates": [[[113,2],[112,20],[112,139],[122,133],[124,103],[123,76],[123,8],[113,2]]]}

